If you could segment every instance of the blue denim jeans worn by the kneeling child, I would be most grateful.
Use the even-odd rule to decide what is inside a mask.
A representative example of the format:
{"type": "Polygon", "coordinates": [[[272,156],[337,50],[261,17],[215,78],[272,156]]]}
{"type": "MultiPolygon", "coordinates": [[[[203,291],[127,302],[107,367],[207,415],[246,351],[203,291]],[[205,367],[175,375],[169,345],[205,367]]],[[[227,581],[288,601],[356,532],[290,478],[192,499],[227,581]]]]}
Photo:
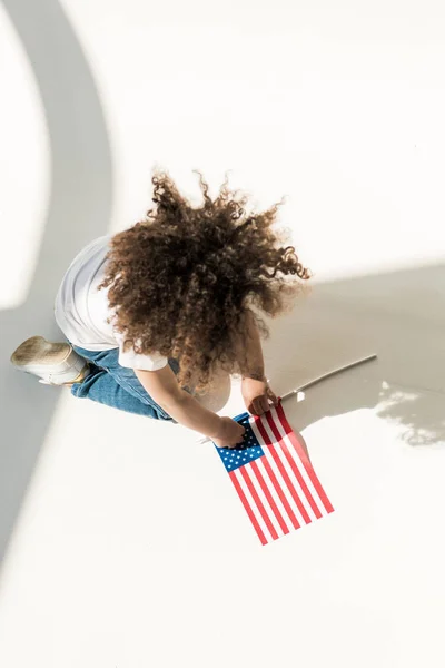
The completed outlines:
{"type": "MultiPolygon", "coordinates": [[[[67,340],[68,341],[68,340],[67,340]]],[[[156,403],[145,390],[132,369],[121,366],[118,362],[119,348],[110,351],[87,351],[72,345],[78,355],[89,362],[90,373],[81,383],[71,385],[71,394],[80,399],[91,399],[127,413],[147,415],[155,420],[168,420],[178,424],[166,411],[156,403]]],[[[179,372],[179,362],[174,357],[168,364],[175,375],[179,372]]],[[[186,392],[191,393],[188,387],[186,392]]]]}

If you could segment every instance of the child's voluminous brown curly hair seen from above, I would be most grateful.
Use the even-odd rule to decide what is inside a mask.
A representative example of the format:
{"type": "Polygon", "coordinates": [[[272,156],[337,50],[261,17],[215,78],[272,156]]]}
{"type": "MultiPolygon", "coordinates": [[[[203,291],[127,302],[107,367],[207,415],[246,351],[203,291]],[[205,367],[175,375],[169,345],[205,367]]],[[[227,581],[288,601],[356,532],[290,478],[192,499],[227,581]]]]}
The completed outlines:
{"type": "MultiPolygon", "coordinates": [[[[110,286],[108,302],[116,330],[126,336],[123,348],[178,358],[180,386],[195,376],[195,391],[204,394],[217,367],[241,373],[237,343],[247,314],[254,313],[250,307],[271,317],[289,311],[304,285],[286,278],[306,281],[310,273],[294,246],[279,246],[289,230],[271,230],[283,199],[264,213],[246,215],[247,197],[235,200],[227,174],[211,200],[202,175],[194,171],[204,193],[199,208],[190,206],[165,170],[155,168],[157,209],[111,237],[99,289],[110,286]]],[[[268,338],[265,322],[254,317],[268,338]]]]}

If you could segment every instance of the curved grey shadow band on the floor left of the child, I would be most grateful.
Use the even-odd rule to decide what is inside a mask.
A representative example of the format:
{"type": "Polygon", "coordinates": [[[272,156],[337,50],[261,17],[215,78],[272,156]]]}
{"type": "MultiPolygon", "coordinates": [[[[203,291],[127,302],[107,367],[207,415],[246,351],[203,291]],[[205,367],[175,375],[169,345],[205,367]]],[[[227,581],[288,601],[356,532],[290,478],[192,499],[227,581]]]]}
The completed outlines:
{"type": "Polygon", "coordinates": [[[51,194],[28,298],[0,313],[0,557],[59,399],[57,389],[18,373],[9,357],[29,336],[61,338],[53,318],[56,292],[76,253],[107,233],[112,198],[111,150],[100,98],[67,17],[57,0],[3,2],[44,106],[51,194]]]}

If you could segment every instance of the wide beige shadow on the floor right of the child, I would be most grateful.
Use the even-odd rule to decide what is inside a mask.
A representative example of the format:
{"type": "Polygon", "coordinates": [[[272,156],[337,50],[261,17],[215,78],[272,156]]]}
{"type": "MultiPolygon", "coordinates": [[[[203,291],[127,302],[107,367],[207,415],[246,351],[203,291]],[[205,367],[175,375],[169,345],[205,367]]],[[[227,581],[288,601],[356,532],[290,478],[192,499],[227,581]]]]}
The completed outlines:
{"type": "Polygon", "coordinates": [[[281,394],[342,364],[378,355],[309,389],[301,403],[289,399],[285,410],[294,428],[375,409],[400,425],[407,445],[444,444],[444,304],[445,265],[438,264],[320,283],[289,315],[268,321],[267,375],[281,394]]]}

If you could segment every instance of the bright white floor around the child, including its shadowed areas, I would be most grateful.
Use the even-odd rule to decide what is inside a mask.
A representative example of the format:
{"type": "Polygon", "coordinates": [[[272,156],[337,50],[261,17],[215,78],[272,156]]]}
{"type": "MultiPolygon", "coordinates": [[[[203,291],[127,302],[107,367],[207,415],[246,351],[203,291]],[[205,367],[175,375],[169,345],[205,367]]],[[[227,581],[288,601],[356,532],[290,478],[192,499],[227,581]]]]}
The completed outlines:
{"type": "MultiPolygon", "coordinates": [[[[445,16],[4,7],[0,665],[442,668],[445,16]],[[149,208],[154,163],[198,200],[192,169],[258,208],[289,195],[316,278],[267,320],[277,394],[378,355],[285,403],[335,512],[266,547],[196,432],[9,367],[58,337],[72,255],[149,208]]],[[[244,411],[237,383],[208,401],[244,411]]]]}

